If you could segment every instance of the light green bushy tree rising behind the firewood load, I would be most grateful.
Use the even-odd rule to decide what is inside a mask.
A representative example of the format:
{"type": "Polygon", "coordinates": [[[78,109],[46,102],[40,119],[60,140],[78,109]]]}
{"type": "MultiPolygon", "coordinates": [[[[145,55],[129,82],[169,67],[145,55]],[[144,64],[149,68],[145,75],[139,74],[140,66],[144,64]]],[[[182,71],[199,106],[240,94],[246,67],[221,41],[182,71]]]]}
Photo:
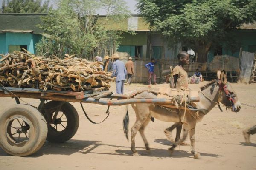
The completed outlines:
{"type": "Polygon", "coordinates": [[[60,0],[58,9],[42,17],[49,38],[37,44],[37,53],[45,55],[76,54],[92,59],[95,55],[111,55],[125,30],[106,30],[108,20],[123,20],[129,16],[123,0],[60,0]],[[96,11],[107,11],[104,22],[97,22],[96,11]]]}

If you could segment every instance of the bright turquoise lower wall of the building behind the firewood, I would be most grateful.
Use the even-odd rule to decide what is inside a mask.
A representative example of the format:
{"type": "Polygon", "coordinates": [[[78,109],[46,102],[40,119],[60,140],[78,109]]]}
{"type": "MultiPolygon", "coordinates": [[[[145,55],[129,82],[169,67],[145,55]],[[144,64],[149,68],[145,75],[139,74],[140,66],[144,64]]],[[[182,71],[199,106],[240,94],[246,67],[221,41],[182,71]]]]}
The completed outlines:
{"type": "Polygon", "coordinates": [[[0,34],[0,53],[6,54],[9,45],[27,45],[28,51],[35,54],[35,44],[40,41],[41,35],[31,33],[3,33],[0,34]]]}

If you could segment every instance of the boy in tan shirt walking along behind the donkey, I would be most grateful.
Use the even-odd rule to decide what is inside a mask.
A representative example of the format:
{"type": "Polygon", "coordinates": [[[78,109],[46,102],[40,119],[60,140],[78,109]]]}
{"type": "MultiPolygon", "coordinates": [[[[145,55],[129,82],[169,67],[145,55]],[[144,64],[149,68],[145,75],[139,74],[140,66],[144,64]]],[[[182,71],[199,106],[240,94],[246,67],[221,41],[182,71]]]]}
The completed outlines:
{"type": "MultiPolygon", "coordinates": [[[[181,88],[181,87],[188,87],[188,74],[184,68],[184,65],[189,64],[189,54],[186,51],[180,51],[180,53],[177,55],[179,64],[175,66],[172,70],[172,76],[173,79],[171,79],[170,82],[170,87],[171,88],[181,88]]],[[[182,130],[182,124],[180,123],[175,123],[171,127],[167,128],[164,130],[164,133],[166,136],[169,136],[169,139],[172,136],[172,130],[176,127],[176,137],[175,137],[175,142],[180,140],[180,133],[182,130]]],[[[181,145],[188,145],[186,143],[182,143],[181,145]]]]}

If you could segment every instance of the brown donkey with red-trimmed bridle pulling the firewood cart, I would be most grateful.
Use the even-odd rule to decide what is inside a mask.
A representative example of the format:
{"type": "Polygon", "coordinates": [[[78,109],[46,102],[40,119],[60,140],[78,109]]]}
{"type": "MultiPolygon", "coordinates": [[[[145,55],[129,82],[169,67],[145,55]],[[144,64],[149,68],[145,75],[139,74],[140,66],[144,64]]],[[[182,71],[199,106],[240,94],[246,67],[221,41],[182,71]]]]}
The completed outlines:
{"type": "MultiPolygon", "coordinates": [[[[184,110],[178,112],[178,109],[169,109],[154,104],[132,104],[132,107],[134,108],[134,111],[136,113],[136,121],[131,128],[131,151],[133,153],[133,156],[139,156],[137,150],[135,149],[135,136],[137,134],[137,131],[139,131],[140,135],[142,136],[146,150],[150,150],[148,141],[144,135],[144,129],[153,117],[165,122],[175,122],[175,125],[172,129],[180,125],[181,117],[182,119],[184,118],[182,122],[183,138],[180,141],[177,141],[177,143],[169,148],[169,150],[172,154],[177,144],[183,142],[189,132],[191,153],[194,155],[194,158],[198,158],[200,154],[195,151],[196,123],[200,122],[201,119],[203,119],[204,115],[212,110],[215,105],[219,105],[219,102],[227,108],[230,108],[233,112],[239,112],[239,110],[241,109],[241,103],[239,102],[239,99],[236,96],[230,83],[227,82],[226,77],[226,72],[224,70],[219,71],[219,80],[213,80],[207,85],[201,87],[201,91],[199,92],[200,102],[196,103],[196,107],[194,109],[186,109],[186,114],[184,113],[184,110]]],[[[140,94],[135,95],[134,98],[157,98],[157,95],[148,91],[144,91],[140,94]]],[[[125,136],[128,139],[128,105],[126,108],[127,112],[126,116],[123,119],[123,128],[125,136]]]]}

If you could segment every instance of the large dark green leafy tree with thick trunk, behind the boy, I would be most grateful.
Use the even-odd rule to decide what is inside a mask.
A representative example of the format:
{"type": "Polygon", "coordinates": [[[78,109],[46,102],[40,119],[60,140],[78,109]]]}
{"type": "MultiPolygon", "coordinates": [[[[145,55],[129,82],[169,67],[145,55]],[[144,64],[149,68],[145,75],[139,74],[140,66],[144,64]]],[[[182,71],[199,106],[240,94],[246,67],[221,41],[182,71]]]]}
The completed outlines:
{"type": "Polygon", "coordinates": [[[198,62],[206,62],[211,48],[234,41],[233,28],[256,20],[256,0],[139,0],[137,5],[152,29],[170,45],[192,48],[198,62]]]}

